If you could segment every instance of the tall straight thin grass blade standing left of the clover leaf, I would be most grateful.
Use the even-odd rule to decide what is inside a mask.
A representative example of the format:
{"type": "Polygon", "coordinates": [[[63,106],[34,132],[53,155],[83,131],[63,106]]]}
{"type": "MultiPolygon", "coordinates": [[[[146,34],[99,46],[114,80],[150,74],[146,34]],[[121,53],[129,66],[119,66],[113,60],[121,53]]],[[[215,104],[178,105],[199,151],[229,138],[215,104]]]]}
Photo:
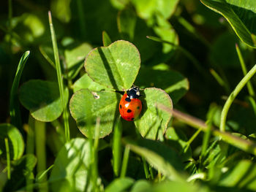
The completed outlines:
{"type": "Polygon", "coordinates": [[[59,51],[58,51],[58,46],[57,46],[57,40],[56,40],[56,34],[53,28],[53,20],[51,18],[51,13],[50,11],[48,12],[49,16],[49,23],[50,23],[50,34],[51,34],[51,39],[53,42],[53,53],[54,53],[54,58],[55,58],[55,64],[56,64],[56,72],[57,72],[57,77],[58,77],[58,82],[59,82],[59,93],[61,96],[61,104],[63,107],[63,119],[64,119],[64,128],[65,128],[65,136],[66,136],[66,142],[69,141],[70,135],[69,135],[69,115],[67,112],[67,104],[64,98],[64,83],[62,79],[62,74],[61,74],[61,64],[59,61],[59,51]]]}

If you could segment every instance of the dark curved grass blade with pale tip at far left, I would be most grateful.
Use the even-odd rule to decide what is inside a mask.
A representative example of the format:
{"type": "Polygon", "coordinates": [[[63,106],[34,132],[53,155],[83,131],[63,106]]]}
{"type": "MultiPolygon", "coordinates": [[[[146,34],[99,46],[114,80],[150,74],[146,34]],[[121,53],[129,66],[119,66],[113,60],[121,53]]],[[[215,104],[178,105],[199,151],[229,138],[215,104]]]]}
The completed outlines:
{"type": "Polygon", "coordinates": [[[20,108],[18,103],[18,85],[20,84],[20,77],[23,72],[23,68],[26,64],[27,59],[29,58],[29,51],[23,53],[22,57],[20,58],[20,62],[18,64],[18,68],[15,74],[15,78],[12,82],[12,90],[10,93],[10,117],[12,125],[16,126],[17,128],[21,129],[21,119],[20,119],[20,108]]]}

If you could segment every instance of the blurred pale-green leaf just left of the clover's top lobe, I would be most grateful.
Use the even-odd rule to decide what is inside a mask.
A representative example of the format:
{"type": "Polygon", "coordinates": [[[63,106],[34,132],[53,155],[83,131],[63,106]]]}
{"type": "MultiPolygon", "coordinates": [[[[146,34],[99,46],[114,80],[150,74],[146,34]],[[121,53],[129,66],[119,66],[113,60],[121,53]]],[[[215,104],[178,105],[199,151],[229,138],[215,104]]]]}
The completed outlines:
{"type": "Polygon", "coordinates": [[[78,75],[78,72],[83,67],[83,61],[86,55],[92,49],[88,43],[82,43],[77,47],[64,50],[64,56],[66,61],[67,76],[69,79],[73,79],[78,75]]]}

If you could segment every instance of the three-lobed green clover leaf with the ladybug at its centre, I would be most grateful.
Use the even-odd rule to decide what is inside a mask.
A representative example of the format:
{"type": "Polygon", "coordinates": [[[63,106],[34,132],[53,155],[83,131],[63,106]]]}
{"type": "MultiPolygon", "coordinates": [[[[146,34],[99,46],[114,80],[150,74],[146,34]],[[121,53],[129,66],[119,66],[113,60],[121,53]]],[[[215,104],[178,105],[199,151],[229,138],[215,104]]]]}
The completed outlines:
{"type": "MultiPolygon", "coordinates": [[[[130,42],[116,41],[108,47],[91,50],[86,56],[85,69],[87,74],[75,82],[70,112],[82,134],[94,137],[95,127],[99,126],[102,138],[111,133],[119,115],[121,94],[115,91],[127,91],[132,87],[140,69],[140,53],[130,42]]],[[[154,73],[149,75],[153,77],[154,73]]],[[[177,82],[180,80],[184,77],[177,82]]],[[[172,91],[176,88],[181,86],[174,86],[172,91]]],[[[171,118],[172,100],[159,88],[146,88],[141,90],[141,95],[143,110],[135,126],[143,137],[160,138],[171,118]]]]}

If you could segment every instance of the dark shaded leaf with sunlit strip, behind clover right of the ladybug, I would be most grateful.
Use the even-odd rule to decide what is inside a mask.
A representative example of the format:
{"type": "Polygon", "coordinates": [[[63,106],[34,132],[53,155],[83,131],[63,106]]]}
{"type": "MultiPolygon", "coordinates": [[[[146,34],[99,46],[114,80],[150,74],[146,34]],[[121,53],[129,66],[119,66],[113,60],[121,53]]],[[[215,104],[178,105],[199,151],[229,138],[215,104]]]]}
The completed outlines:
{"type": "Polygon", "coordinates": [[[178,102],[189,89],[187,78],[178,72],[170,70],[154,70],[142,67],[140,74],[135,81],[135,85],[140,85],[140,88],[156,87],[162,88],[170,95],[173,104],[178,102]],[[164,77],[164,78],[163,78],[164,77]]]}

